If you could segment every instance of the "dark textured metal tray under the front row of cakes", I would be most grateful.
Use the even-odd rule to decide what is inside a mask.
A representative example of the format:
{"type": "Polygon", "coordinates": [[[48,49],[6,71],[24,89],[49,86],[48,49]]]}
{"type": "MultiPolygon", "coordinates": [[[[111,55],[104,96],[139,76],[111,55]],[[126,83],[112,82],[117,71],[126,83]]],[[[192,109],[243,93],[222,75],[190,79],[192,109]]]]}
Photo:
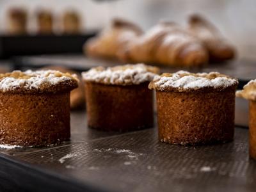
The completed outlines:
{"type": "Polygon", "coordinates": [[[72,112],[71,141],[48,148],[1,149],[0,187],[17,191],[255,191],[248,130],[233,142],[182,147],[157,129],[120,134],[88,129],[72,112]],[[67,158],[65,158],[67,157],[67,158]],[[11,187],[10,187],[11,186],[11,187]]]}

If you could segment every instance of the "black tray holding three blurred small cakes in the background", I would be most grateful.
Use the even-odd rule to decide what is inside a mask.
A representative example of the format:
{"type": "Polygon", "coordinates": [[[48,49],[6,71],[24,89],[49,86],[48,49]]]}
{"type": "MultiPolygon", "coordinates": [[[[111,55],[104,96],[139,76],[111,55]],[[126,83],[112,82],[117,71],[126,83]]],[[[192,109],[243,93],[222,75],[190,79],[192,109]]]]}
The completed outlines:
{"type": "Polygon", "coordinates": [[[0,58],[17,55],[81,53],[83,44],[96,31],[81,35],[0,35],[0,58]]]}

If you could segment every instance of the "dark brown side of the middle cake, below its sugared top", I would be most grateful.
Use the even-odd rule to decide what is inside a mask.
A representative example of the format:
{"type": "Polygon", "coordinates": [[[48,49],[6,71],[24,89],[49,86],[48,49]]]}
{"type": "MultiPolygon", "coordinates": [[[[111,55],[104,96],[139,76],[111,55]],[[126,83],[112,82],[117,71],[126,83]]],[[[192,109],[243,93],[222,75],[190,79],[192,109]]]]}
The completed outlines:
{"type": "Polygon", "coordinates": [[[106,85],[85,82],[88,126],[103,131],[134,131],[153,125],[153,93],[148,83],[106,85]]]}

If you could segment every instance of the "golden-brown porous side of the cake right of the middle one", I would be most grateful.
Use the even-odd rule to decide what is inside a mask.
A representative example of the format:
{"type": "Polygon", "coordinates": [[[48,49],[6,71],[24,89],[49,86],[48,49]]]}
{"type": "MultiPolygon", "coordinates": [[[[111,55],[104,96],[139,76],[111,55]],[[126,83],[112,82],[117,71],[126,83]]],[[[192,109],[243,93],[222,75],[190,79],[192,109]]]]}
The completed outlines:
{"type": "Polygon", "coordinates": [[[235,86],[223,91],[157,91],[159,140],[180,145],[225,143],[234,137],[235,86]]]}

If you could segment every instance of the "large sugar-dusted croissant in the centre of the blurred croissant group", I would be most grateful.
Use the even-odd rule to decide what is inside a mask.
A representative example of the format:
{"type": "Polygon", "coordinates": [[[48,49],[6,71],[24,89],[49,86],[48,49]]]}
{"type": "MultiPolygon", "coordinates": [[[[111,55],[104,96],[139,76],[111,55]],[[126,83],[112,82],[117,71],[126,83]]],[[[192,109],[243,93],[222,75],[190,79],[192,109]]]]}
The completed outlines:
{"type": "Polygon", "coordinates": [[[160,22],[134,39],[119,56],[123,61],[187,67],[208,61],[204,45],[173,22],[160,22]]]}

